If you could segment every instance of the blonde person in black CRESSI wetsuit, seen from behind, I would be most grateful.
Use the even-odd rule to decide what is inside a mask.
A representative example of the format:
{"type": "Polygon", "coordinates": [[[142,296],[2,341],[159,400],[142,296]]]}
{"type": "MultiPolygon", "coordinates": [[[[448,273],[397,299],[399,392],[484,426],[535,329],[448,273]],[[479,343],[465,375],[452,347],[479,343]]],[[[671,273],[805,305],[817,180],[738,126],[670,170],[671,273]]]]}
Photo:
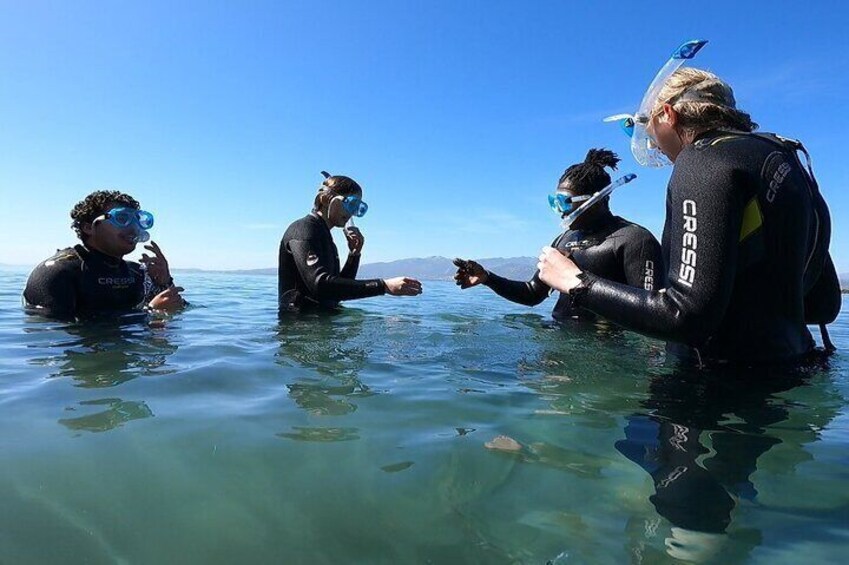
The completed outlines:
{"type": "Polygon", "coordinates": [[[840,309],[828,207],[810,161],[799,159],[799,151],[807,157],[801,143],[752,133],[757,124],[727,83],[678,68],[700,47],[682,46],[622,123],[638,162],[674,163],[666,288],[605,280],[551,248],[540,256],[540,278],[577,306],[666,339],[700,364],[798,361],[814,349],[806,324],[822,324],[829,347],[824,324],[840,309]]]}

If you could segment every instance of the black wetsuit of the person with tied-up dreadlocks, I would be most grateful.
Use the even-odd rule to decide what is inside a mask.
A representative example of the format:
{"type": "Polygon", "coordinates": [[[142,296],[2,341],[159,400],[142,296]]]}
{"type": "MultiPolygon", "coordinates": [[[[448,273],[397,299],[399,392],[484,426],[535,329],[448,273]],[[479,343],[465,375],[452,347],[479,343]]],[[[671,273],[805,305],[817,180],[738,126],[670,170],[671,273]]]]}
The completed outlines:
{"type": "MultiPolygon", "coordinates": [[[[590,225],[580,230],[567,230],[551,246],[570,253],[581,270],[637,288],[660,288],[664,267],[657,239],[642,226],[607,210],[600,212],[590,225]]],[[[550,292],[539,279],[539,272],[527,282],[489,273],[484,284],[499,296],[526,306],[536,306],[550,292]]],[[[592,312],[573,306],[571,297],[566,294],[560,295],[551,315],[557,320],[595,318],[592,312]]]]}

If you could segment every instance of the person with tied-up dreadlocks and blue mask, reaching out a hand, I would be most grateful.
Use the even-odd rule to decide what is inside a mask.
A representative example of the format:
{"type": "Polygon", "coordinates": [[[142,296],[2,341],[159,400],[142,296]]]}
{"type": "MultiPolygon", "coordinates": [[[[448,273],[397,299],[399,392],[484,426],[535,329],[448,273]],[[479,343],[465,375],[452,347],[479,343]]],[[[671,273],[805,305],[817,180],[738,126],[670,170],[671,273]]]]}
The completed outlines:
{"type": "MultiPolygon", "coordinates": [[[[598,199],[602,196],[599,195],[590,200],[593,194],[611,184],[605,167],[615,170],[618,163],[619,157],[612,151],[590,149],[584,162],[566,169],[550,203],[568,225],[551,246],[591,273],[655,290],[661,288],[664,272],[660,243],[644,227],[614,216],[610,212],[609,196],[598,199]]],[[[455,259],[454,264],[457,266],[454,280],[460,288],[483,284],[499,296],[526,306],[536,306],[551,293],[551,287],[540,280],[539,272],[527,282],[514,281],[487,271],[476,261],[455,259]]],[[[560,295],[551,315],[560,321],[595,318],[592,312],[574,307],[566,294],[560,295]]]]}

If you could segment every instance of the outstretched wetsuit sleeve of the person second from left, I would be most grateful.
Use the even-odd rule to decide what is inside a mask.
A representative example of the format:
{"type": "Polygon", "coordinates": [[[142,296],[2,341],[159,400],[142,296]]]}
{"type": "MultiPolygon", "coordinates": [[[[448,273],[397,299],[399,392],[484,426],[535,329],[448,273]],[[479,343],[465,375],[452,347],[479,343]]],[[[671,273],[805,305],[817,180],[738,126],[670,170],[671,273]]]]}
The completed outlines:
{"type": "MultiPolygon", "coordinates": [[[[352,300],[386,293],[386,286],[381,279],[358,281],[331,275],[333,266],[326,263],[326,257],[330,254],[315,253],[314,247],[315,244],[309,240],[289,241],[289,251],[298,266],[298,273],[317,300],[352,300]]],[[[348,267],[347,263],[345,267],[348,267]]]]}

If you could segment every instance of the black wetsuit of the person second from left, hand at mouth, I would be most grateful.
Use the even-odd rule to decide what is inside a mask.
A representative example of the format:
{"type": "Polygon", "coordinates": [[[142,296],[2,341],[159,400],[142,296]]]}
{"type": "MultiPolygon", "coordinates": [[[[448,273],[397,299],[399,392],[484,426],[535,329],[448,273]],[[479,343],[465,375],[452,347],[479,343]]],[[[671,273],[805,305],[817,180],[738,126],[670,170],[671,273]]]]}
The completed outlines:
{"type": "Polygon", "coordinates": [[[342,300],[386,293],[381,279],[355,280],[359,255],[348,255],[339,269],[339,251],[330,228],[314,213],[297,220],[283,234],[277,262],[279,312],[314,307],[336,308],[342,300]]]}

